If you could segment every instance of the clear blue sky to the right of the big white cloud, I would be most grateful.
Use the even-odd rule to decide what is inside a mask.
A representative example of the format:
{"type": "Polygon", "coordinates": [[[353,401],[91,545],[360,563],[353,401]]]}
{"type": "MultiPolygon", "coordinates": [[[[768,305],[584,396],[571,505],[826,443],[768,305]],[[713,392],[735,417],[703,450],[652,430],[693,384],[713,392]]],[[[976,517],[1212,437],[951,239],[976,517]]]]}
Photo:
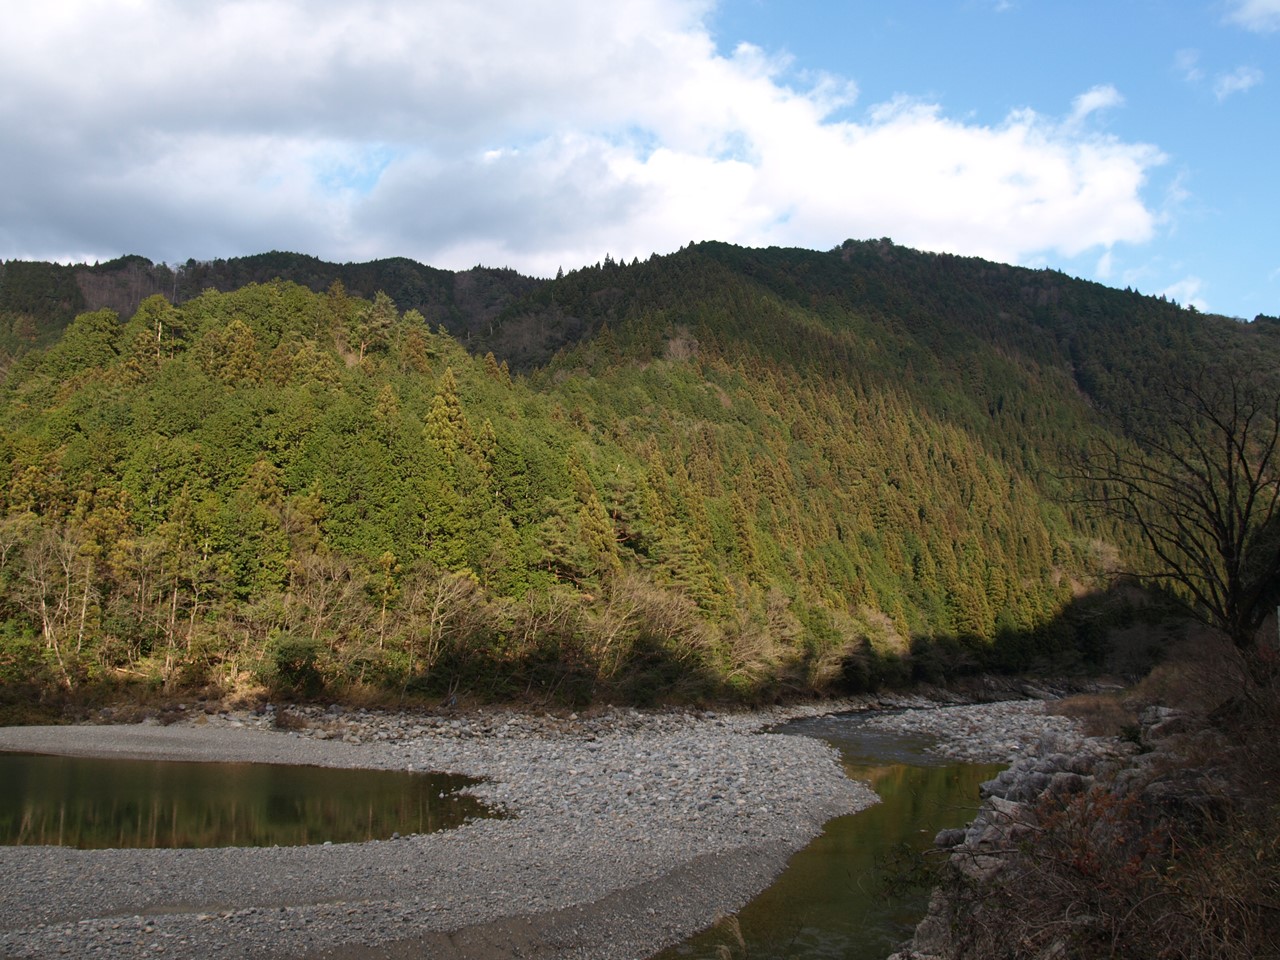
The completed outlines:
{"type": "Polygon", "coordinates": [[[1093,129],[1164,155],[1142,189],[1152,238],[1106,260],[1094,248],[1024,261],[1233,316],[1280,314],[1280,1],[735,0],[712,28],[722,49],[767,37],[797,74],[852,79],[855,118],[908,96],[998,125],[1114,90],[1093,129]]]}

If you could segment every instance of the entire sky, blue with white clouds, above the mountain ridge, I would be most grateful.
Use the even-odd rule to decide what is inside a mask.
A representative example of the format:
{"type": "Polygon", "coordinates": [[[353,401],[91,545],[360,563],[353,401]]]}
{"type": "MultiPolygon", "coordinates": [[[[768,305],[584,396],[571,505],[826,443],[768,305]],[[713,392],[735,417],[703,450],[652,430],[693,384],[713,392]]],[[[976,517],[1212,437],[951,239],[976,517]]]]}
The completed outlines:
{"type": "Polygon", "coordinates": [[[888,237],[1280,315],[1280,0],[4,0],[0,259],[888,237]]]}

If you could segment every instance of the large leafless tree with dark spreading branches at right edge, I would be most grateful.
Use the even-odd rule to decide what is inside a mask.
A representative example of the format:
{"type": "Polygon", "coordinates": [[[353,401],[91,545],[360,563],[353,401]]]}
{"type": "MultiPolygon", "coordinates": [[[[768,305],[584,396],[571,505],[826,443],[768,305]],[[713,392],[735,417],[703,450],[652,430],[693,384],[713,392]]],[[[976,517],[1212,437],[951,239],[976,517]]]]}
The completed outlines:
{"type": "Polygon", "coordinates": [[[1243,652],[1280,599],[1280,388],[1231,369],[1135,411],[1128,440],[1097,442],[1075,479],[1101,513],[1130,524],[1146,579],[1174,588],[1243,652]]]}

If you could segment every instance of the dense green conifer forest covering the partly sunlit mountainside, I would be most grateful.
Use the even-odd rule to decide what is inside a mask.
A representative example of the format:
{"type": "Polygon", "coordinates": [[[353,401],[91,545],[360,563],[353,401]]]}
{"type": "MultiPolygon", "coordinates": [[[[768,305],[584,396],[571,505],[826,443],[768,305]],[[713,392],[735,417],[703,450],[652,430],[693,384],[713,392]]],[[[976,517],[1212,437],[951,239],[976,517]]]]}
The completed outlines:
{"type": "Polygon", "coordinates": [[[0,684],[762,699],[1101,667],[1066,465],[1280,323],[888,241],[0,265],[0,684]]]}

